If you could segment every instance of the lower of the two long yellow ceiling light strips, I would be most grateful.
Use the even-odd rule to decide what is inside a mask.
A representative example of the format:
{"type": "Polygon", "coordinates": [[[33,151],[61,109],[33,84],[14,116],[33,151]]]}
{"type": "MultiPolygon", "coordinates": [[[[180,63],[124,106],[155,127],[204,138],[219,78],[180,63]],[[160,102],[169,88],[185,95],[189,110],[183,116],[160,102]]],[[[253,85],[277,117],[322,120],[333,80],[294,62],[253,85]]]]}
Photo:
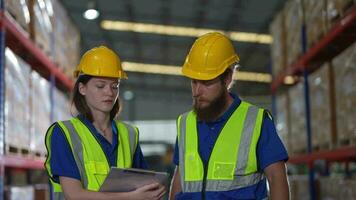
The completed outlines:
{"type": "MultiPolygon", "coordinates": [[[[123,62],[122,65],[124,70],[129,72],[182,76],[180,66],[145,64],[136,62],[123,62]]],[[[233,78],[234,80],[238,81],[251,81],[262,83],[271,83],[272,81],[272,77],[270,74],[244,71],[238,71],[237,73],[235,73],[235,76],[233,78]]]]}

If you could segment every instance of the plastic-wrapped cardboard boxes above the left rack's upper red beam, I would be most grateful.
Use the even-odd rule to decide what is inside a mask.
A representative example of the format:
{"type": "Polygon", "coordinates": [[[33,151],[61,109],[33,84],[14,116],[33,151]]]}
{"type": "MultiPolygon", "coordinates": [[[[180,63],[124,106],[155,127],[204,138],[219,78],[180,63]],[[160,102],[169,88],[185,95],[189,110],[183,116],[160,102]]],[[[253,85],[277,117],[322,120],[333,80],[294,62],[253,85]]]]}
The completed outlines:
{"type": "Polygon", "coordinates": [[[31,39],[72,77],[80,57],[80,33],[59,0],[6,0],[6,8],[31,39]]]}

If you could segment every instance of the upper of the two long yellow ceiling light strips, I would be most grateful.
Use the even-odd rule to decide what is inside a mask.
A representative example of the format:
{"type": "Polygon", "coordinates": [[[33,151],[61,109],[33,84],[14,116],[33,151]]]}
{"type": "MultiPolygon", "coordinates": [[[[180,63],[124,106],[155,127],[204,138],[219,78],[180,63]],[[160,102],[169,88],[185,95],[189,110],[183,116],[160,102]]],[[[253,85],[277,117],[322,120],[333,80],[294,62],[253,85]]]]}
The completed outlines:
{"type": "Polygon", "coordinates": [[[138,33],[152,33],[171,36],[199,37],[208,32],[221,32],[226,34],[234,41],[253,42],[271,44],[272,37],[268,34],[258,34],[249,32],[223,31],[218,29],[203,29],[184,26],[169,26],[160,24],[146,24],[124,21],[103,20],[101,27],[106,30],[132,31],[138,33]]]}

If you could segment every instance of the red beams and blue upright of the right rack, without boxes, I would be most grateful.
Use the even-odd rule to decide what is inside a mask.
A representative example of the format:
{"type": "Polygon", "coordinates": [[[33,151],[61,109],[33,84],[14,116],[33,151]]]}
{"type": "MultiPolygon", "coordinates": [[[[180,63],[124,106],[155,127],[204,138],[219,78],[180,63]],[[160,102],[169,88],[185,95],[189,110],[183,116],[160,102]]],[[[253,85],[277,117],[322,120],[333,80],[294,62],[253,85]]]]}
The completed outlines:
{"type": "MultiPolygon", "coordinates": [[[[316,199],[314,185],[314,162],[324,160],[330,162],[349,162],[356,160],[356,145],[339,147],[334,150],[312,152],[311,141],[311,118],[308,75],[321,67],[323,62],[329,61],[345,50],[356,41],[356,6],[354,5],[348,13],[339,19],[330,31],[322,37],[308,51],[306,50],[306,28],[302,27],[302,50],[301,55],[292,65],[274,77],[271,91],[274,94],[283,84],[287,76],[304,77],[304,97],[307,130],[307,152],[303,155],[293,156],[289,159],[290,164],[306,164],[309,168],[310,199],[316,199]]],[[[272,98],[275,100],[275,98],[272,98]]]]}

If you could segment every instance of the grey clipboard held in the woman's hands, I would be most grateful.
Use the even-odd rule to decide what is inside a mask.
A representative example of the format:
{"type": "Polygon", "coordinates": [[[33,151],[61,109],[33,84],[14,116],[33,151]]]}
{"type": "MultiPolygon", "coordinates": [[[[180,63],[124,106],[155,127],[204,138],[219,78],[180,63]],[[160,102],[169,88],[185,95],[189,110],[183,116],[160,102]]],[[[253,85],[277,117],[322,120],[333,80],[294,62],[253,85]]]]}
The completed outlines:
{"type": "Polygon", "coordinates": [[[168,173],[135,168],[111,167],[100,192],[130,192],[139,187],[158,182],[167,187],[168,173]]]}

